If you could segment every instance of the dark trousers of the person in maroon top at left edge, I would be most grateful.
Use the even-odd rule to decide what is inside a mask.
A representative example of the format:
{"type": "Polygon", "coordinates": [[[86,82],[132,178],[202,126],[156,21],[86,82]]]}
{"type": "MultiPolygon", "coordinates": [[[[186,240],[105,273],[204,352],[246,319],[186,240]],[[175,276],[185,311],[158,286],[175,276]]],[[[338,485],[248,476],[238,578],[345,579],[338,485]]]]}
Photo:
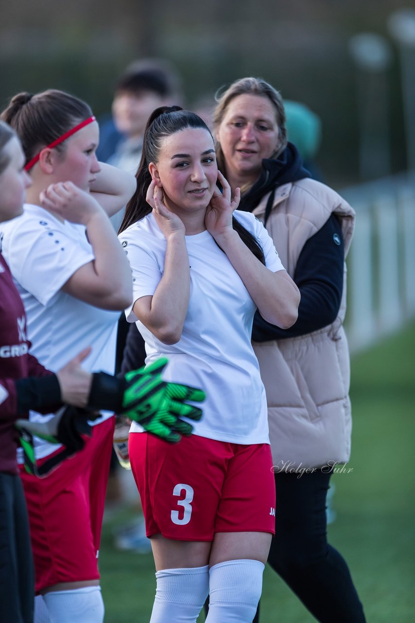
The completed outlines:
{"type": "Polygon", "coordinates": [[[34,568],[19,475],[0,473],[0,609],[2,623],[32,623],[34,568]]]}

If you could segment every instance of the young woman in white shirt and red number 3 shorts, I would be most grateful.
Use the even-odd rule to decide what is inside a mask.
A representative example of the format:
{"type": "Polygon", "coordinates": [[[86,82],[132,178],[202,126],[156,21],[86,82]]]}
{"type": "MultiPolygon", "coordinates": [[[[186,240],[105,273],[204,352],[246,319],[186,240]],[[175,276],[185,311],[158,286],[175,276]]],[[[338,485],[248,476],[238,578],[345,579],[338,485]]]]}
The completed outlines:
{"type": "Polygon", "coordinates": [[[156,563],[151,623],[252,621],[274,531],[266,397],[251,348],[258,307],[291,326],[299,293],[239,190],[218,172],[204,121],[179,107],[149,118],[136,193],[119,239],[133,272],[126,310],[149,363],[207,399],[194,435],[177,447],[133,424],[130,460],[156,563]],[[217,187],[220,183],[222,193],[217,187]]]}

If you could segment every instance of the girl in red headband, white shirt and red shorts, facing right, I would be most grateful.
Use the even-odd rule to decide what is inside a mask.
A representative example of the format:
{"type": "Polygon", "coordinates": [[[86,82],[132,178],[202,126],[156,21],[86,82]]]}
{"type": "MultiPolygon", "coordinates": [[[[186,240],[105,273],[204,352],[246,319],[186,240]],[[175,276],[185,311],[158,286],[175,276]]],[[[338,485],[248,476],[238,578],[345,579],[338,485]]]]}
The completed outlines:
{"type": "MultiPolygon", "coordinates": [[[[131,270],[108,219],[133,194],[133,176],[95,155],[90,107],[57,90],[20,93],[2,113],[21,139],[32,178],[24,214],[2,226],[2,252],[28,318],[32,353],[52,370],[91,345],[88,370],[113,373],[119,312],[131,270]]],[[[41,480],[21,471],[38,595],[35,622],[101,623],[97,556],[114,419],[93,422],[85,449],[41,480]]],[[[36,418],[35,414],[31,417],[36,418]]],[[[57,446],[40,443],[37,459],[57,446]]]]}

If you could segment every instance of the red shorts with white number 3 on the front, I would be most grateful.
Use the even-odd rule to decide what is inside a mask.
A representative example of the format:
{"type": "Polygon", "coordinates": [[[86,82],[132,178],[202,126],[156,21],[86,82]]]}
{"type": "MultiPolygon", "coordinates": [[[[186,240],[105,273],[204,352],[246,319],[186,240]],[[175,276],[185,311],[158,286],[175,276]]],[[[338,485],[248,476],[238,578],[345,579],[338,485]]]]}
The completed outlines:
{"type": "Polygon", "coordinates": [[[129,457],[147,536],[212,541],[216,532],[275,533],[268,444],[231,444],[197,435],[168,444],[132,433],[129,457]]]}

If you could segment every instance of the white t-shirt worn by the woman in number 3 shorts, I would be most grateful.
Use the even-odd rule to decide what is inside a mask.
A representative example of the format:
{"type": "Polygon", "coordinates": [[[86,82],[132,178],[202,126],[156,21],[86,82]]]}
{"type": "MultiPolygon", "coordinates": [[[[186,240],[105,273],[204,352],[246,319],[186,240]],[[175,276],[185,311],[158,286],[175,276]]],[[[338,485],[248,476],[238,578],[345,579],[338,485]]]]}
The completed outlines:
{"type": "MultiPolygon", "coordinates": [[[[261,244],[266,266],[284,270],[273,240],[248,212],[235,217],[261,244]]],[[[133,273],[133,301],[154,295],[164,270],[166,238],[152,214],[119,235],[133,273]]],[[[185,237],[190,262],[190,301],[180,341],[166,345],[126,310],[146,341],[146,363],[166,356],[166,381],[202,388],[203,418],[194,434],[237,444],[269,443],[266,396],[251,346],[256,305],[226,254],[208,231],[185,237]]],[[[248,252],[248,249],[247,249],[248,252]]],[[[193,422],[192,422],[193,423],[193,422]]],[[[133,422],[132,432],[142,428],[133,422]]]]}

